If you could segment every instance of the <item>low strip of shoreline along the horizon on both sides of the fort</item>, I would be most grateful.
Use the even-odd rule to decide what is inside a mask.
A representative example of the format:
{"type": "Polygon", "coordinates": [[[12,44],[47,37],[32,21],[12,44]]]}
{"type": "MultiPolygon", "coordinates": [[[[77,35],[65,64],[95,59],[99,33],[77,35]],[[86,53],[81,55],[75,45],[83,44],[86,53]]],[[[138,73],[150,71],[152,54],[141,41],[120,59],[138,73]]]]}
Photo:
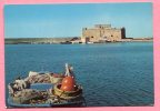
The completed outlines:
{"type": "Polygon", "coordinates": [[[117,43],[117,42],[152,42],[153,38],[126,38],[120,41],[99,41],[82,43],[80,38],[6,38],[4,44],[93,44],[93,43],[117,43]],[[79,41],[79,42],[74,42],[79,41]]]}

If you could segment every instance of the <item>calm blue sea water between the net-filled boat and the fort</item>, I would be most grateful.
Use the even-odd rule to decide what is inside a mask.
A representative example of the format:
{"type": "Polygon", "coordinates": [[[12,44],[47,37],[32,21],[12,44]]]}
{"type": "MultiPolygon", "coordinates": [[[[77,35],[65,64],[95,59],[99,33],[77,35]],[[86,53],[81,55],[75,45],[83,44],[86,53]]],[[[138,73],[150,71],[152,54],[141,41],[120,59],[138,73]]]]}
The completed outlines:
{"type": "Polygon", "coordinates": [[[151,105],[152,46],[152,42],[6,44],[6,85],[18,75],[27,77],[29,71],[63,72],[68,62],[74,67],[89,107],[151,105]]]}

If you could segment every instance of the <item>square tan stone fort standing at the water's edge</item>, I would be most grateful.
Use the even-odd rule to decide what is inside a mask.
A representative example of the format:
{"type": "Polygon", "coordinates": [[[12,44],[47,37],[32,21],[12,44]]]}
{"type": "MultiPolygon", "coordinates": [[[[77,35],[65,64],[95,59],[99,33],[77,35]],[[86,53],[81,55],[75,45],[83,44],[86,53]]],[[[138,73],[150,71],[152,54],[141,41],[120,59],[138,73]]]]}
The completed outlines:
{"type": "Polygon", "coordinates": [[[96,24],[94,28],[83,28],[81,41],[86,42],[108,42],[126,39],[124,28],[111,28],[111,24],[96,24]]]}

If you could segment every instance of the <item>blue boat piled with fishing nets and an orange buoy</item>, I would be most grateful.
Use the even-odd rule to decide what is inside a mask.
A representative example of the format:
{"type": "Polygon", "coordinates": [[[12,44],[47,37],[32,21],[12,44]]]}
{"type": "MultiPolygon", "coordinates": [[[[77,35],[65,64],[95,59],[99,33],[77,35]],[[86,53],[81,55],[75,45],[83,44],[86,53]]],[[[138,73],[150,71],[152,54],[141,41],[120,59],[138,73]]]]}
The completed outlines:
{"type": "Polygon", "coordinates": [[[66,63],[64,74],[30,71],[24,79],[8,84],[11,108],[86,107],[82,87],[73,68],[66,63]]]}

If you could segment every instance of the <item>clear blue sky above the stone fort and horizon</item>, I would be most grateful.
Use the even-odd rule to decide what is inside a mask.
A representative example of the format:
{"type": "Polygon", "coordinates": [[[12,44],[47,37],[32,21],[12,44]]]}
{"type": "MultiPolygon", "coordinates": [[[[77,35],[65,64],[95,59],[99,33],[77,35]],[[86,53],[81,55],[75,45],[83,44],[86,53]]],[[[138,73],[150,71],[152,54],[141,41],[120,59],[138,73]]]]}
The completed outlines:
{"type": "Polygon", "coordinates": [[[152,3],[4,6],[4,38],[80,37],[94,24],[124,27],[128,38],[152,37],[152,3]]]}

